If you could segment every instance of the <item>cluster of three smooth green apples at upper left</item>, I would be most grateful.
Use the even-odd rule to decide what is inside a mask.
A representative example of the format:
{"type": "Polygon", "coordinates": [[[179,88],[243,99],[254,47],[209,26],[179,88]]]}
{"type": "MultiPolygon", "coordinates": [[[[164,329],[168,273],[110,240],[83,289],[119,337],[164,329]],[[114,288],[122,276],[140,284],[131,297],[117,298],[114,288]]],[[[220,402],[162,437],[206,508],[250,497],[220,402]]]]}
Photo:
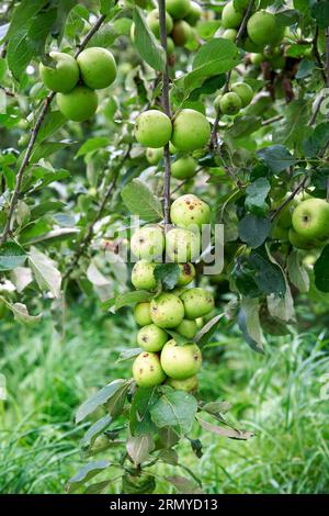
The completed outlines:
{"type": "Polygon", "coordinates": [[[59,111],[75,122],[90,119],[98,109],[94,90],[107,88],[116,78],[116,63],[110,51],[90,47],[77,59],[63,52],[50,52],[54,66],[41,63],[44,85],[57,93],[59,111]]]}

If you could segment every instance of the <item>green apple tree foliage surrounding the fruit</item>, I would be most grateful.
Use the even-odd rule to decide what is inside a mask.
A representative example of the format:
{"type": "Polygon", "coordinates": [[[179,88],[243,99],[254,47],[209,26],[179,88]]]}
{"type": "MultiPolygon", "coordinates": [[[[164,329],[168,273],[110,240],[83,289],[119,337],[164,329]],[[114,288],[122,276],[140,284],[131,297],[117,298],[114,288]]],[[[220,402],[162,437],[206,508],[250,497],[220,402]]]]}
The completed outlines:
{"type": "MultiPolygon", "coordinates": [[[[58,328],[64,301],[95,295],[111,316],[149,299],[149,293],[129,291],[129,265],[110,260],[129,215],[145,222],[163,218],[163,159],[150,166],[133,131],[141,111],[161,104],[167,61],[146,22],[147,3],[1,4],[2,317],[34,325],[50,307],[58,328]],[[111,48],[118,75],[111,88],[98,92],[95,116],[75,123],[41,82],[38,64],[49,65],[50,49],[75,53],[89,46],[111,48]]],[[[234,0],[237,9],[241,3],[246,7],[234,0]]],[[[202,197],[212,206],[212,223],[225,225],[219,281],[229,281],[230,301],[219,300],[217,314],[196,340],[204,346],[219,326],[229,332],[238,324],[246,343],[264,352],[266,334],[288,334],[296,324],[302,294],[329,300],[329,247],[299,249],[280,223],[298,197],[328,198],[329,8],[326,1],[251,0],[231,41],[220,27],[224,2],[200,4],[203,15],[193,37],[169,56],[169,98],[173,112],[190,108],[206,114],[213,134],[194,156],[197,176],[172,178],[171,191],[202,197]],[[265,47],[257,64],[242,42],[248,16],[259,9],[271,10],[285,35],[280,56],[265,47]],[[252,103],[234,116],[219,116],[216,96],[239,80],[252,88],[252,103]]],[[[170,267],[160,276],[162,285],[177,282],[170,267]]],[[[121,360],[137,354],[128,349],[121,360]]],[[[131,379],[110,382],[78,410],[78,423],[91,420],[82,439],[88,463],[70,480],[69,492],[103,492],[113,476],[123,492],[152,492],[157,461],[185,470],[188,478],[167,478],[178,491],[200,492],[177,444],[185,439],[202,456],[202,442],[190,437],[193,425],[249,438],[224,418],[228,410],[226,402],[205,403],[168,385],[136,390],[131,379]],[[98,460],[107,449],[115,459],[98,460]],[[99,473],[105,480],[90,482],[99,473]]]]}

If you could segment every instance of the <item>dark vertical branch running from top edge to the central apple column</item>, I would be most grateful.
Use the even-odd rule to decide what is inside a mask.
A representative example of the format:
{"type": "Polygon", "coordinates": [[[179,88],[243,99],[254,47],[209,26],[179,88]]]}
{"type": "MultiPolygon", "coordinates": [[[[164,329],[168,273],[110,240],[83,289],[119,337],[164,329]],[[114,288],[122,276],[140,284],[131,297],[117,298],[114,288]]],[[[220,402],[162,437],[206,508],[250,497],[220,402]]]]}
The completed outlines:
{"type": "MultiPolygon", "coordinates": [[[[162,71],[162,108],[163,112],[171,119],[171,109],[169,102],[169,66],[167,52],[167,27],[166,27],[166,0],[159,0],[159,18],[160,18],[160,41],[166,52],[166,65],[162,71]]],[[[169,143],[163,147],[164,157],[164,183],[163,183],[163,212],[164,212],[164,232],[170,225],[170,179],[171,179],[171,160],[169,152],[169,143]]]]}

